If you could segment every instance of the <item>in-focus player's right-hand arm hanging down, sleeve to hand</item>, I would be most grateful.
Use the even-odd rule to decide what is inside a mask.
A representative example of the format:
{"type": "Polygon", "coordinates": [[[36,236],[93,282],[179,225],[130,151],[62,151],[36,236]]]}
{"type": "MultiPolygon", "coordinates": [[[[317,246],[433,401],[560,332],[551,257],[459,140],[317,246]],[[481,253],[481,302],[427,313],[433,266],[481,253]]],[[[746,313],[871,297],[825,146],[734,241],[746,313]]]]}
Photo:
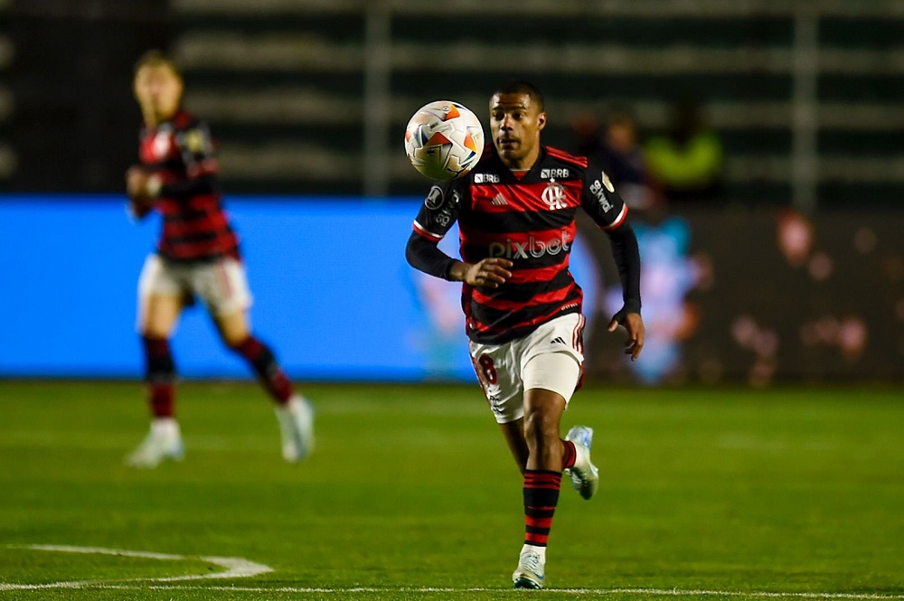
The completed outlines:
{"type": "Polygon", "coordinates": [[[645,326],[640,315],[640,249],[634,228],[627,220],[627,205],[607,174],[591,165],[584,183],[581,206],[607,233],[612,245],[624,305],[613,315],[608,330],[615,332],[619,325],[625,328],[625,353],[631,355],[631,361],[636,361],[644,348],[645,326]]]}

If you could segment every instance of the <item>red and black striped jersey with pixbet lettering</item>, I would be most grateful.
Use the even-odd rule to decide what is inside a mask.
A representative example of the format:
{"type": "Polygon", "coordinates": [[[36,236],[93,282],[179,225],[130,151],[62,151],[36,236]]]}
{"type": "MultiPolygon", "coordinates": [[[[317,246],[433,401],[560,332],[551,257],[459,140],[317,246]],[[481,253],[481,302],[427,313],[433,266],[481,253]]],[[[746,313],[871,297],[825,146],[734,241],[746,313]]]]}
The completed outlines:
{"type": "Polygon", "coordinates": [[[462,286],[471,340],[504,343],[580,312],[583,293],[569,271],[579,207],[603,230],[626,220],[627,206],[601,169],[550,146],[519,179],[487,145],[470,174],[430,189],[414,221],[420,236],[438,242],[457,221],[466,263],[513,262],[512,277],[498,288],[462,286]]]}

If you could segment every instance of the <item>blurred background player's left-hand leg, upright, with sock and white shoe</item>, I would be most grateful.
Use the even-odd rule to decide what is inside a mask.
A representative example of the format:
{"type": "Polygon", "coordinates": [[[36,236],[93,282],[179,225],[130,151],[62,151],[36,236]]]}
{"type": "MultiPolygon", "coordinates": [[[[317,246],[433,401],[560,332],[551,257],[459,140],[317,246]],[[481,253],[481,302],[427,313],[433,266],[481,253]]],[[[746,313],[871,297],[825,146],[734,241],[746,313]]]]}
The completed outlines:
{"type": "Polygon", "coordinates": [[[150,294],[141,299],[139,330],[145,352],[151,430],[126,457],[127,465],[133,467],[156,467],[163,461],[178,461],[184,455],[175,419],[175,364],[169,348],[169,337],[182,308],[181,296],[150,294]]]}

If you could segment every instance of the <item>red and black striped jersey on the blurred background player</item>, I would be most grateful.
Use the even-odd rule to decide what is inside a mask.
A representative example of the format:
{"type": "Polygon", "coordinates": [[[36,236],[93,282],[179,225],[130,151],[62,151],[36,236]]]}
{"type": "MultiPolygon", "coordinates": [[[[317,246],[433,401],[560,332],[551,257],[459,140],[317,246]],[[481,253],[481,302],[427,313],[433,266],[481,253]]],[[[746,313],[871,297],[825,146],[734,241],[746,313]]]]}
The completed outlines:
{"type": "Polygon", "coordinates": [[[157,252],[174,261],[239,258],[239,240],[222,208],[219,167],[208,127],[180,110],[141,132],[141,163],[163,183],[155,209],[163,216],[157,252]]]}

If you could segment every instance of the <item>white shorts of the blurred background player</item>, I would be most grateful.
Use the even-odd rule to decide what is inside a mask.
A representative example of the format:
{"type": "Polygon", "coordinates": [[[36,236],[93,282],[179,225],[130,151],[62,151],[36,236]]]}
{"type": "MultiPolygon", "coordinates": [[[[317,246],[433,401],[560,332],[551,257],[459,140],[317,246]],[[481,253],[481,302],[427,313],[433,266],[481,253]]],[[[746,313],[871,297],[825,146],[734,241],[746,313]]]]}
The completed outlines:
{"type": "MultiPolygon", "coordinates": [[[[212,263],[175,263],[150,254],[138,277],[138,299],[151,295],[197,296],[213,315],[247,310],[252,298],[245,266],[235,258],[212,263]]],[[[139,315],[142,309],[139,307],[139,315]]]]}

